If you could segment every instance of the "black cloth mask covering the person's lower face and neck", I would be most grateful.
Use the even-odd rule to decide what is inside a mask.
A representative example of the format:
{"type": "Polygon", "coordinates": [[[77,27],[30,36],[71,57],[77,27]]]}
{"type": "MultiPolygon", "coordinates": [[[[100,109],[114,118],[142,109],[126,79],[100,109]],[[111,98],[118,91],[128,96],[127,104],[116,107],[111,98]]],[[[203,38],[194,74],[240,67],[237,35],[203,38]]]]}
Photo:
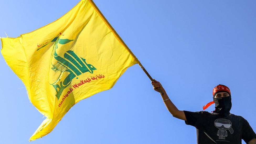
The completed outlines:
{"type": "Polygon", "coordinates": [[[231,96],[222,97],[222,98],[214,98],[215,110],[214,113],[228,115],[230,114],[230,110],[232,107],[231,96]]]}

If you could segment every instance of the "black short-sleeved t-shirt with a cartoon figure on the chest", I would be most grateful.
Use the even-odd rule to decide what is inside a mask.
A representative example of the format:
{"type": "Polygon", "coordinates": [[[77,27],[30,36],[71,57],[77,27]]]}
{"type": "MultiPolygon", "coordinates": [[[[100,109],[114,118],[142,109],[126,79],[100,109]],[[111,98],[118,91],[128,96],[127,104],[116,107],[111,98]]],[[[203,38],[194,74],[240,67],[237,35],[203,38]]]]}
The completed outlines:
{"type": "Polygon", "coordinates": [[[187,125],[196,127],[198,144],[242,144],[248,143],[256,134],[242,116],[229,114],[220,116],[207,111],[185,111],[187,125]]]}

